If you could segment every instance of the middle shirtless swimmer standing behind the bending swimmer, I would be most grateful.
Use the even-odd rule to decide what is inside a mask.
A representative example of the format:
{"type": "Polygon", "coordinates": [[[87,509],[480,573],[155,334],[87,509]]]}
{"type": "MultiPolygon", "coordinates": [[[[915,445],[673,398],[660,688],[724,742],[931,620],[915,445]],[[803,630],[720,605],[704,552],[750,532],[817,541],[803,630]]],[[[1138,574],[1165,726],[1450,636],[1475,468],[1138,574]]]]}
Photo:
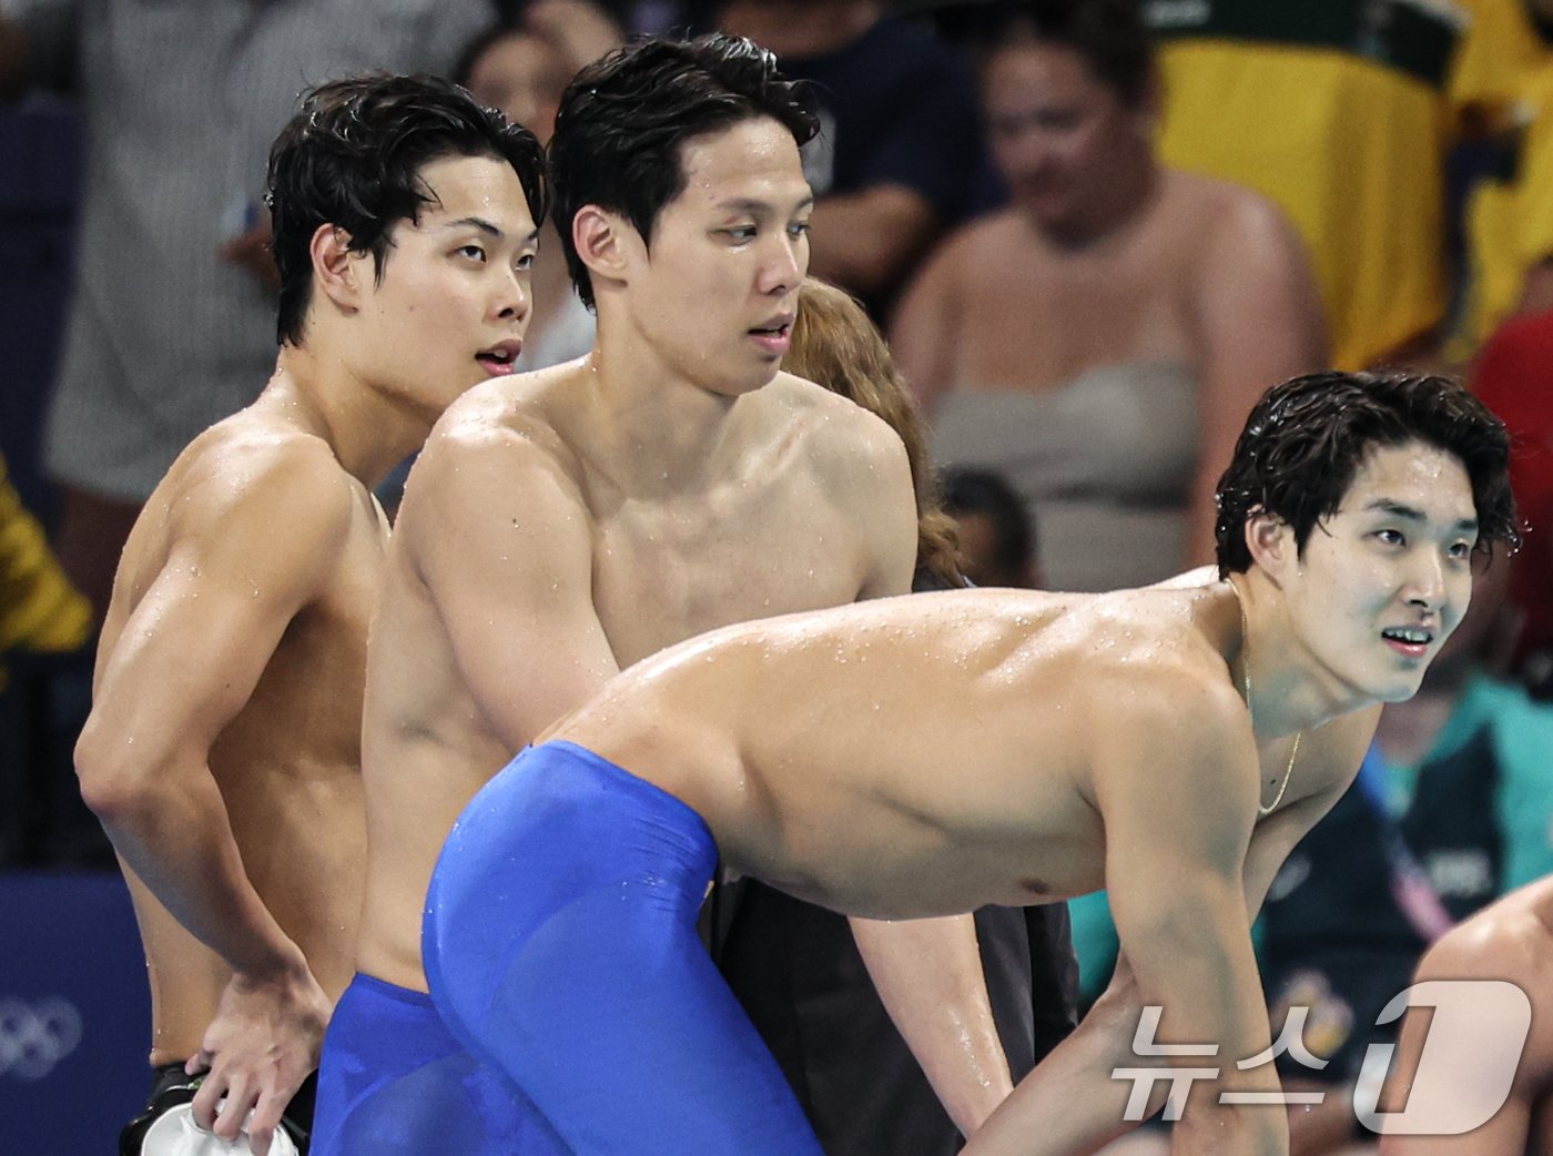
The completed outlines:
{"type": "MultiPolygon", "coordinates": [[[[579,360],[464,395],[405,486],[367,673],[360,974],[325,1043],[315,1156],[567,1151],[426,994],[426,887],[453,819],[624,667],[728,623],[910,589],[901,440],[778,371],[814,131],[770,53],[721,36],[637,42],[562,98],[554,218],[598,334],[579,360]]],[[[856,931],[974,1130],[1009,1075],[971,918],[856,931]]],[[[719,1095],[721,1058],[694,1078],[719,1095]]]]}

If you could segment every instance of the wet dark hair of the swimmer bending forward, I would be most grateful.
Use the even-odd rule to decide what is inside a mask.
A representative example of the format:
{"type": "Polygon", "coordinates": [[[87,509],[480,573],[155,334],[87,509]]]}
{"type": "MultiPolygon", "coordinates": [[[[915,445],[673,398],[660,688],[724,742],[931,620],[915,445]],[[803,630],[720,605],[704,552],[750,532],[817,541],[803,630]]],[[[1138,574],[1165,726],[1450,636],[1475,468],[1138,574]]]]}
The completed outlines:
{"type": "Polygon", "coordinates": [[[1246,521],[1258,513],[1291,525],[1303,555],[1317,524],[1337,513],[1365,455],[1409,441],[1435,446],[1466,469],[1477,507],[1475,552],[1520,547],[1510,435],[1463,385],[1402,373],[1309,373],[1263,395],[1219,479],[1219,576],[1250,569],[1246,521]]]}

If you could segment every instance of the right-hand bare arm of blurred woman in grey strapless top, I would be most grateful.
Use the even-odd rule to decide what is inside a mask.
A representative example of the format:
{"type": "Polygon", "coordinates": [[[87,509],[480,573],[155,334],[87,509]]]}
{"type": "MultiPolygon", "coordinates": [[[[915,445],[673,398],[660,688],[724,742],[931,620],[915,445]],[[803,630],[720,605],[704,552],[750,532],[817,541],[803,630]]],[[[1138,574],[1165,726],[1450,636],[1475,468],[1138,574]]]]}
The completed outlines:
{"type": "Polygon", "coordinates": [[[1270,385],[1328,359],[1322,300],[1300,238],[1269,202],[1236,193],[1197,273],[1200,443],[1185,566],[1213,561],[1214,489],[1252,406],[1270,385]]]}

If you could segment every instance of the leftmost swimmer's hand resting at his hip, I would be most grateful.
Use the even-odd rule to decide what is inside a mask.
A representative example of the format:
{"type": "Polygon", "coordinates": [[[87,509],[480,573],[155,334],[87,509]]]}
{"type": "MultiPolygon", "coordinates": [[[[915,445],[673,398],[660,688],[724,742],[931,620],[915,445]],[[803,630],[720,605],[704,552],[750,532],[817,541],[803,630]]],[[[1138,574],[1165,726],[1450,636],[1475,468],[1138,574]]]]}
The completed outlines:
{"type": "Polygon", "coordinates": [[[248,1144],[266,1156],[281,1112],[318,1066],[329,1013],[329,998],[306,965],[264,982],[233,976],[200,1050],[183,1066],[189,1075],[210,1072],[194,1094],[194,1122],[236,1140],[252,1109],[248,1144]]]}

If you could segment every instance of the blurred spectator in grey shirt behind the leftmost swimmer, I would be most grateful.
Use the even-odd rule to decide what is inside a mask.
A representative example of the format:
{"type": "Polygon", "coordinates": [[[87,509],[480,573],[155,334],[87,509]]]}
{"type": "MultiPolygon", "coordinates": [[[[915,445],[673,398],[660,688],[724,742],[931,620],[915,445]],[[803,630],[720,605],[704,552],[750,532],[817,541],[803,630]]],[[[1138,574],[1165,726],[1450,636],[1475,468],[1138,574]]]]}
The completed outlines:
{"type": "Polygon", "coordinates": [[[0,92],[75,84],[89,157],[76,291],[47,432],[59,555],[101,611],[141,502],[275,359],[258,196],[297,93],[446,70],[488,0],[0,0],[0,92]]]}

